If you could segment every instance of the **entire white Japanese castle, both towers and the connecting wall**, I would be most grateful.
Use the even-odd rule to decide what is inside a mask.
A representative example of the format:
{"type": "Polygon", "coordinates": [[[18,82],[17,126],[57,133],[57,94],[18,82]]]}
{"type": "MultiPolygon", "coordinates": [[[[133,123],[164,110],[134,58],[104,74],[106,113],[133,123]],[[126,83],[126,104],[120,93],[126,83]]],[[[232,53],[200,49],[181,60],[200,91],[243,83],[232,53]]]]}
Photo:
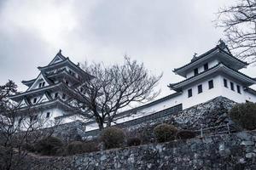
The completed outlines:
{"type": "MultiPolygon", "coordinates": [[[[246,62],[234,57],[220,40],[215,48],[205,54],[195,55],[189,64],[174,69],[175,74],[184,77],[183,81],[168,85],[175,93],[121,112],[116,122],[136,121],[137,118],[177,106],[179,110],[184,110],[219,96],[237,103],[256,102],[256,91],[249,88],[256,83],[256,79],[239,71],[247,65],[246,62]],[[136,111],[137,114],[129,114],[131,111],[136,111]]],[[[54,121],[61,120],[62,123],[80,119],[79,112],[73,110],[70,105],[76,97],[79,98],[74,88],[81,85],[80,77],[88,77],[90,80],[92,76],[64,57],[61,51],[49,65],[38,67],[38,70],[40,74],[37,78],[22,81],[28,87],[26,92],[10,96],[10,99],[19,104],[20,111],[26,111],[28,107],[38,107],[40,116],[54,121]]],[[[86,125],[86,131],[97,128],[94,120],[89,120],[86,125]]]]}

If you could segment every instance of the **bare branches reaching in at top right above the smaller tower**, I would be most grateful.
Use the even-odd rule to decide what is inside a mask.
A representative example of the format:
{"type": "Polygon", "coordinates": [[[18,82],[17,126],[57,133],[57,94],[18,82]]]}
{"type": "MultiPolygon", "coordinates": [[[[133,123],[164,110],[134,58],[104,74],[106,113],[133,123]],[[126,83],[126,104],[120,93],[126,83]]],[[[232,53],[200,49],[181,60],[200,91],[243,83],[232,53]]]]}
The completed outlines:
{"type": "Polygon", "coordinates": [[[239,58],[256,62],[255,0],[239,0],[230,7],[220,8],[217,26],[224,28],[225,41],[239,58]]]}

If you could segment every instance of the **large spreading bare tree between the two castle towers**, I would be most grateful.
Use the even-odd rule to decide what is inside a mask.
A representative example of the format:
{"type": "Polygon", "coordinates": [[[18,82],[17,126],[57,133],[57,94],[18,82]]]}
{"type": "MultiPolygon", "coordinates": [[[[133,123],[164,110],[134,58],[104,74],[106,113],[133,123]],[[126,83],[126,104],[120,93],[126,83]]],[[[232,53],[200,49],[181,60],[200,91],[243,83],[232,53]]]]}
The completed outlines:
{"type": "Polygon", "coordinates": [[[96,120],[100,130],[111,126],[119,111],[126,106],[134,102],[147,102],[159,94],[154,87],[161,75],[149,75],[143,64],[126,56],[122,65],[85,63],[83,69],[94,78],[80,79],[82,86],[75,89],[81,96],[78,104],[89,109],[91,118],[96,120]]]}

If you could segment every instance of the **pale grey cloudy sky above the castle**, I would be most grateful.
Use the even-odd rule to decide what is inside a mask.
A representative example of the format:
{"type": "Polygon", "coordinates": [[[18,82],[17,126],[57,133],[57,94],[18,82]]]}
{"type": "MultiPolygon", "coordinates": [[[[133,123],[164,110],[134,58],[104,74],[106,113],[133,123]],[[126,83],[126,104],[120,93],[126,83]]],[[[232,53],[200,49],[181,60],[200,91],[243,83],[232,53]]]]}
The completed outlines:
{"type": "MultiPolygon", "coordinates": [[[[74,63],[120,63],[125,54],[166,87],[182,80],[172,70],[194,53],[213,48],[223,32],[214,27],[218,8],[229,0],[0,0],[0,84],[38,76],[62,49],[74,63]]],[[[256,77],[255,66],[244,71],[256,77]],[[254,72],[254,73],[253,73],[254,72]]]]}

